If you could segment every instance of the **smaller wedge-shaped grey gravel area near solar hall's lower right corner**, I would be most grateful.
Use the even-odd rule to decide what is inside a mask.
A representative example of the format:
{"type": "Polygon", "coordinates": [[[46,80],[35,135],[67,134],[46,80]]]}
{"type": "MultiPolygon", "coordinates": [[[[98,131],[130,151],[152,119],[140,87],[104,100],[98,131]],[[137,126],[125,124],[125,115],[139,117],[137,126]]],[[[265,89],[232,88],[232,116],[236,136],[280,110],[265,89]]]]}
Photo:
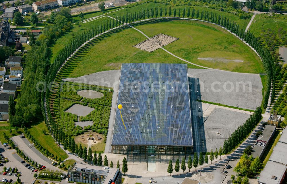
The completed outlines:
{"type": "Polygon", "coordinates": [[[214,109],[204,123],[207,151],[210,152],[211,149],[215,151],[216,148],[223,146],[224,140],[228,139],[237,127],[243,125],[249,116],[236,111],[214,109]]]}

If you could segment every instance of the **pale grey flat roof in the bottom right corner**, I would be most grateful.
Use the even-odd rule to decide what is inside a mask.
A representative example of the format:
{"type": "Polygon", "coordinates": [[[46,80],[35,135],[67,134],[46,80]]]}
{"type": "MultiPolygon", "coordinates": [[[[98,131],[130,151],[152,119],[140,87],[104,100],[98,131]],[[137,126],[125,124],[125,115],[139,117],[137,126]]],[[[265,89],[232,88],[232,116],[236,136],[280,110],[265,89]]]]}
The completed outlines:
{"type": "Polygon", "coordinates": [[[279,184],[286,169],[287,166],[283,164],[268,161],[263,171],[260,173],[258,182],[264,184],[279,184]]]}

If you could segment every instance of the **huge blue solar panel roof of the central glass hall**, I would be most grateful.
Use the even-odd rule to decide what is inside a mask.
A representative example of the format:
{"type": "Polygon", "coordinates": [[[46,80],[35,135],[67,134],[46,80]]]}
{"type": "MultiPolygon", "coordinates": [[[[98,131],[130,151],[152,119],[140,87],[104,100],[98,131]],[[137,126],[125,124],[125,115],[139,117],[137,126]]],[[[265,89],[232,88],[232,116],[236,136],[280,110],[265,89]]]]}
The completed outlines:
{"type": "Polygon", "coordinates": [[[124,63],[112,145],[192,146],[186,64],[124,63]]]}

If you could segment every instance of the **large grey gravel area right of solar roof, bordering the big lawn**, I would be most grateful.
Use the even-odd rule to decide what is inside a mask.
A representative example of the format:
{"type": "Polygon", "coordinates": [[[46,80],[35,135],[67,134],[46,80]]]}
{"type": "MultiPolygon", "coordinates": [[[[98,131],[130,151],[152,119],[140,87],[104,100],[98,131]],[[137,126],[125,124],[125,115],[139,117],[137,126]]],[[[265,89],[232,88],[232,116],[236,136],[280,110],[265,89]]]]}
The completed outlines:
{"type": "Polygon", "coordinates": [[[259,74],[216,69],[188,69],[188,74],[199,78],[201,100],[252,110],[261,105],[263,86],[259,74]]]}

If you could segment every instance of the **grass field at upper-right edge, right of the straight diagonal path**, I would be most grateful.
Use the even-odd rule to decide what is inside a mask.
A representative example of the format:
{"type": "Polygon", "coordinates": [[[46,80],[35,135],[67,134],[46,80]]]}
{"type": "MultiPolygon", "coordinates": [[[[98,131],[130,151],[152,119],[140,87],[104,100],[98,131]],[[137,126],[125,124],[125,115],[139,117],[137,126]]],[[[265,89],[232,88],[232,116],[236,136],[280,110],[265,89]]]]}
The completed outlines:
{"type": "Polygon", "coordinates": [[[262,28],[277,32],[280,27],[287,29],[287,15],[276,14],[275,16],[269,16],[268,14],[257,14],[249,29],[255,36],[260,36],[262,28]]]}

